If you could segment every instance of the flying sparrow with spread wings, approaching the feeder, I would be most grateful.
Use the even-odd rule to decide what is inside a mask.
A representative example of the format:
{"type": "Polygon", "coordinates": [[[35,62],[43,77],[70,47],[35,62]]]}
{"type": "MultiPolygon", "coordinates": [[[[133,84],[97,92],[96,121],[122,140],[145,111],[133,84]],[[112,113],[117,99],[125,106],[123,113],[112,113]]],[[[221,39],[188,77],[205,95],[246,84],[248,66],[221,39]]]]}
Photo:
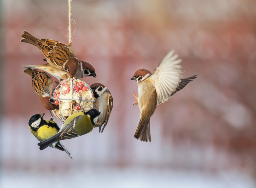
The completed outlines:
{"type": "Polygon", "coordinates": [[[139,99],[135,92],[135,105],[139,103],[140,122],[134,137],[141,141],[151,141],[150,117],[154,114],[156,106],[167,101],[174,93],[184,88],[197,75],[181,79],[183,70],[181,59],[174,50],[171,50],[160,62],[153,74],[146,69],[137,70],[131,80],[138,84],[139,99]],[[136,99],[138,103],[136,103],[136,99]]]}

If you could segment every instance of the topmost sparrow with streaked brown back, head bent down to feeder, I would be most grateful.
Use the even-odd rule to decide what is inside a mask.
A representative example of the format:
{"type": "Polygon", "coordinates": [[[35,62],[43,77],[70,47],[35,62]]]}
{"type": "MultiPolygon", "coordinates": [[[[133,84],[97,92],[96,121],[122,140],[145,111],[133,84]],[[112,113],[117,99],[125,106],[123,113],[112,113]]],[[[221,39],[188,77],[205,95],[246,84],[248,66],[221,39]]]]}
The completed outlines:
{"type": "Polygon", "coordinates": [[[38,47],[52,67],[67,71],[72,77],[76,74],[78,59],[70,46],[51,39],[40,40],[27,31],[24,31],[21,37],[21,42],[38,47]]]}

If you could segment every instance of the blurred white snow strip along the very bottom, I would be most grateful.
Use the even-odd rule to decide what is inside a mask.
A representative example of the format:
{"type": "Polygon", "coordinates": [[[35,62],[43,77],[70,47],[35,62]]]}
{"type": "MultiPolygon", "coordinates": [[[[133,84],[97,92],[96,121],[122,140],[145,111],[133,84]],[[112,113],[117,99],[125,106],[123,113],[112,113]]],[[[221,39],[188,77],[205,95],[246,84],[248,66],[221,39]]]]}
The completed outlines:
{"type": "Polygon", "coordinates": [[[236,172],[209,174],[154,169],[93,169],[70,170],[63,174],[38,172],[1,172],[1,188],[254,188],[253,180],[236,172]]]}

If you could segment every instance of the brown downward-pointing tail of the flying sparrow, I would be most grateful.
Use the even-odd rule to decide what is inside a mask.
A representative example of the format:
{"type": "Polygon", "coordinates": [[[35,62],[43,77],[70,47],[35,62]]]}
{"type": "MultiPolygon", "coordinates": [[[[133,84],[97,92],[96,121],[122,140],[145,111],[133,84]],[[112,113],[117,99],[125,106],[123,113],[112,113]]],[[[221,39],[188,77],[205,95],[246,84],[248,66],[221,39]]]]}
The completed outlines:
{"type": "Polygon", "coordinates": [[[134,134],[134,137],[139,139],[141,141],[145,142],[151,142],[151,136],[150,136],[150,118],[140,118],[139,125],[137,127],[137,130],[134,134]]]}

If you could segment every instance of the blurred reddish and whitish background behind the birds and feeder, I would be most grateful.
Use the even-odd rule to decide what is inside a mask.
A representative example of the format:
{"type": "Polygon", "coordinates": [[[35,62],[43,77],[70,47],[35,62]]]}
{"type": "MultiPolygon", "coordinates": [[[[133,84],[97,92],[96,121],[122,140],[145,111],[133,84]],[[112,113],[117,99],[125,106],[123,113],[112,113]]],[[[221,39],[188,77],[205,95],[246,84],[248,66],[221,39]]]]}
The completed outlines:
{"type": "Polygon", "coordinates": [[[97,74],[82,80],[114,98],[103,133],[63,141],[73,160],[40,151],[30,133],[32,115],[51,116],[22,65],[45,58],[20,42],[26,30],[68,43],[68,2],[0,2],[0,187],[255,187],[255,1],[73,0],[72,48],[97,74]],[[157,107],[144,143],[133,137],[140,110],[130,79],[140,68],[153,72],[171,49],[183,77],[198,78],[157,107]]]}

